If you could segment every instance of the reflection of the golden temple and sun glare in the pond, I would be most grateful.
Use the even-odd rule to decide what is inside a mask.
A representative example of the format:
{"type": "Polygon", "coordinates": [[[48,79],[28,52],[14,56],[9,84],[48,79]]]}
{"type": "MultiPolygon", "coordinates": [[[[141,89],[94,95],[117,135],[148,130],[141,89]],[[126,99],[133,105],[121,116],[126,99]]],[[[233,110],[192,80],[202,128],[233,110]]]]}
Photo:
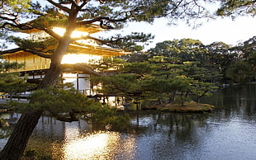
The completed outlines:
{"type": "MultiPolygon", "coordinates": [[[[43,141],[45,136],[50,137],[46,140],[54,159],[134,158],[136,145],[135,137],[131,134],[92,131],[92,126],[83,120],[63,123],[48,118],[44,117],[42,123],[36,126],[29,146],[35,148],[35,139],[43,141]]],[[[40,150],[40,146],[37,149],[40,150]]]]}

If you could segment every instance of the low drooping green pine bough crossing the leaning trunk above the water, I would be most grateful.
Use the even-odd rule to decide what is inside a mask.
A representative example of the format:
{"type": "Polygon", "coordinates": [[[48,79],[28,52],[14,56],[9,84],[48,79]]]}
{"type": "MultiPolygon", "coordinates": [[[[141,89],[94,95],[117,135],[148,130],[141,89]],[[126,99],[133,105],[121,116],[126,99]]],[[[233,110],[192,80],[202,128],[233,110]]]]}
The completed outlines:
{"type": "Polygon", "coordinates": [[[31,102],[19,106],[21,111],[49,111],[57,120],[78,120],[78,117],[100,126],[123,127],[128,125],[127,115],[116,115],[116,109],[102,106],[100,102],[73,89],[50,87],[31,93],[31,102]],[[119,124],[119,122],[125,122],[119,124]]]}

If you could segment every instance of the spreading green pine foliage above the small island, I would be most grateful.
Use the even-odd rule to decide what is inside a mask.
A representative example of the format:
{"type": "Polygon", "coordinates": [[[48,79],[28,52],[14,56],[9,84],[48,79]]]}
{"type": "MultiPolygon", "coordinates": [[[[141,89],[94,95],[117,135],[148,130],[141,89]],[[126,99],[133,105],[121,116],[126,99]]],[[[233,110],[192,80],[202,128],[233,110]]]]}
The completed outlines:
{"type": "Polygon", "coordinates": [[[97,77],[102,82],[104,95],[125,96],[127,99],[159,99],[184,104],[192,95],[209,96],[216,89],[211,74],[198,62],[181,62],[175,58],[154,56],[145,62],[126,63],[124,68],[107,77],[97,77]]]}

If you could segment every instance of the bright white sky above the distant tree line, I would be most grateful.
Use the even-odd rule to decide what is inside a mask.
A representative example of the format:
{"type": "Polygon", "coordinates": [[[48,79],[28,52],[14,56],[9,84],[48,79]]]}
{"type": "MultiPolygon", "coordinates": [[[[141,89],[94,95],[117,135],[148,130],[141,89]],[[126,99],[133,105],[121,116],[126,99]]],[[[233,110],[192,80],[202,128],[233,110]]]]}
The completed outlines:
{"type": "Polygon", "coordinates": [[[146,23],[132,23],[126,31],[145,32],[155,35],[154,43],[146,48],[152,48],[158,42],[164,40],[191,38],[201,40],[204,45],[210,45],[215,41],[222,41],[227,45],[237,45],[239,42],[249,40],[256,35],[256,18],[252,16],[237,17],[234,21],[231,18],[218,18],[204,22],[197,29],[186,26],[181,22],[177,26],[168,26],[168,21],[159,19],[154,25],[146,23]]]}

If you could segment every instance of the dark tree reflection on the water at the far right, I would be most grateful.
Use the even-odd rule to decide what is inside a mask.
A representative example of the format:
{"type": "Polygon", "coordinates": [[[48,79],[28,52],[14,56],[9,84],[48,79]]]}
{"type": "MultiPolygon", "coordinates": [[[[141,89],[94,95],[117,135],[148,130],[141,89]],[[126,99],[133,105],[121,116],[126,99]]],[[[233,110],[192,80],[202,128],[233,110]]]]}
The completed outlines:
{"type": "Polygon", "coordinates": [[[226,87],[215,92],[211,97],[203,98],[202,102],[216,106],[215,117],[230,119],[241,116],[243,119],[256,117],[256,84],[226,87]]]}

